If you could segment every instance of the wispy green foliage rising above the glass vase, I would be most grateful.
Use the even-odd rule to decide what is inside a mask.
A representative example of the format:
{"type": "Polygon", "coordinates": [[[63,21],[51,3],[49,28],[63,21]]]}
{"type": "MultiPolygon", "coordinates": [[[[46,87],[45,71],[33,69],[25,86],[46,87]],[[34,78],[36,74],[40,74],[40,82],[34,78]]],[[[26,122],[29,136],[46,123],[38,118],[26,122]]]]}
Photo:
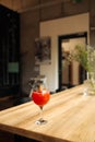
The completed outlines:
{"type": "Polygon", "coordinates": [[[76,45],[68,57],[69,61],[78,61],[87,72],[95,71],[95,48],[90,45],[76,45]]]}

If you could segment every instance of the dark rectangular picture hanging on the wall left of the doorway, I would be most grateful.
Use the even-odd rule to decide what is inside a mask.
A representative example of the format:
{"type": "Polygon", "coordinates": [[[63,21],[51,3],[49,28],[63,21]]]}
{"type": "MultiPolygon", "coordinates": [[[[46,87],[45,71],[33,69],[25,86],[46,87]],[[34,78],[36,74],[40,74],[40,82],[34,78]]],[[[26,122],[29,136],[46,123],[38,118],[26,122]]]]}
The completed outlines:
{"type": "Polygon", "coordinates": [[[35,39],[35,64],[51,63],[51,38],[40,37],[35,39]]]}

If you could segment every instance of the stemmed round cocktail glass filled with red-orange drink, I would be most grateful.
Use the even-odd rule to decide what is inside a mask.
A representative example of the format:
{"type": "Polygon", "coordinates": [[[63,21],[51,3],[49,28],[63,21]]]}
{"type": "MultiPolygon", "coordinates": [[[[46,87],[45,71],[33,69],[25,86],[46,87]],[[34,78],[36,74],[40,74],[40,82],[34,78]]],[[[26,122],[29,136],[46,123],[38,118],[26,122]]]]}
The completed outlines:
{"type": "Polygon", "coordinates": [[[36,125],[45,125],[47,120],[43,118],[43,108],[50,99],[50,92],[47,90],[46,82],[36,81],[31,92],[32,100],[40,108],[40,118],[36,125]]]}

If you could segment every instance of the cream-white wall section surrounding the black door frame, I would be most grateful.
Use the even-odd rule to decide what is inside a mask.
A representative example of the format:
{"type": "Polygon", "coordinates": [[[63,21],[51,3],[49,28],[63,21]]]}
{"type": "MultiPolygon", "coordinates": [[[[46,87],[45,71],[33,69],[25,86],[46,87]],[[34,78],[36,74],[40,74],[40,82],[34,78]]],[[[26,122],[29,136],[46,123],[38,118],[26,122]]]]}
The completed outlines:
{"type": "Polygon", "coordinates": [[[50,91],[58,88],[58,36],[87,32],[90,35],[88,13],[40,22],[40,37],[51,37],[51,64],[41,64],[40,74],[47,76],[50,91]]]}

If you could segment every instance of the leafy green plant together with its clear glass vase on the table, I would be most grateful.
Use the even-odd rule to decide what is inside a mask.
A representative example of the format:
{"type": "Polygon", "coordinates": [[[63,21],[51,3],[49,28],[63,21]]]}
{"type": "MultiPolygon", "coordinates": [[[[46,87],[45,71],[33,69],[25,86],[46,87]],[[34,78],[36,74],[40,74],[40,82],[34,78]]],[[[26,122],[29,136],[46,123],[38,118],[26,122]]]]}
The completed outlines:
{"type": "Polygon", "coordinates": [[[90,45],[76,45],[68,57],[68,61],[78,61],[86,71],[84,84],[87,93],[95,94],[95,48],[90,45]]]}

